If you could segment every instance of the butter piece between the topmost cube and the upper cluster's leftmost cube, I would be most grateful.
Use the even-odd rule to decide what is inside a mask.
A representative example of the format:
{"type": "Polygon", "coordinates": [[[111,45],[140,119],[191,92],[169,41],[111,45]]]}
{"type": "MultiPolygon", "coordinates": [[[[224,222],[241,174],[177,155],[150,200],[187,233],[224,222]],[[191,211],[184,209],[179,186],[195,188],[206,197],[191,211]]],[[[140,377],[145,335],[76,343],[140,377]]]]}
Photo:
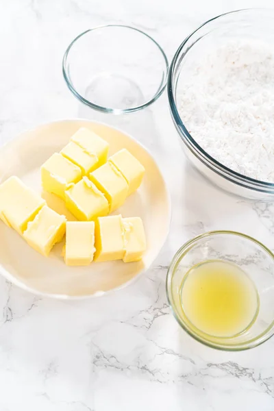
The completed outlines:
{"type": "Polygon", "coordinates": [[[97,155],[82,149],[82,147],[73,141],[69,142],[60,153],[73,162],[73,164],[76,164],[81,169],[82,175],[91,173],[98,163],[97,155]]]}

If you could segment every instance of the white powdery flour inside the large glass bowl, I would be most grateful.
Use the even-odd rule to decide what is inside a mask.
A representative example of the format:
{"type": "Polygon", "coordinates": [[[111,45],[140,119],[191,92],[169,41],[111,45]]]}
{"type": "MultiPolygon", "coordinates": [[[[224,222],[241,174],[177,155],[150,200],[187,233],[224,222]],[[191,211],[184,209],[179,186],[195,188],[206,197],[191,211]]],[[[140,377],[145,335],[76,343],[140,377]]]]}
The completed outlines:
{"type": "Polygon", "coordinates": [[[272,49],[229,42],[192,67],[181,92],[182,121],[205,151],[240,174],[274,182],[272,49]]]}

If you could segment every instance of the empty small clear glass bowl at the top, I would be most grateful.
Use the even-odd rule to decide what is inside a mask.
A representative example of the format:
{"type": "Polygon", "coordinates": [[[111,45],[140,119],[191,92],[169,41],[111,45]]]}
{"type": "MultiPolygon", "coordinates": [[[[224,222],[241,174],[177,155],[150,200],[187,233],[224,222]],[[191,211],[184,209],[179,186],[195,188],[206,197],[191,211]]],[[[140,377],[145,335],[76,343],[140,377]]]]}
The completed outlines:
{"type": "Polygon", "coordinates": [[[67,86],[82,103],[113,114],[153,103],[169,64],[160,45],[134,27],[105,25],[79,34],[63,58],[67,86]]]}

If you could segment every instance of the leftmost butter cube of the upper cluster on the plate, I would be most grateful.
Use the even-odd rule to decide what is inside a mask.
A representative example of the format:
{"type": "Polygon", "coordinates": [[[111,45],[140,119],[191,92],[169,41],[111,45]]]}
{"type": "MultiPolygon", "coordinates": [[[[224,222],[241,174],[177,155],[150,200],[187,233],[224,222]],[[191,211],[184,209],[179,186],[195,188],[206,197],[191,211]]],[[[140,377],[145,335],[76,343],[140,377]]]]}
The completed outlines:
{"type": "Polygon", "coordinates": [[[51,155],[41,167],[42,187],[64,200],[64,192],[82,178],[81,169],[59,153],[51,155]]]}

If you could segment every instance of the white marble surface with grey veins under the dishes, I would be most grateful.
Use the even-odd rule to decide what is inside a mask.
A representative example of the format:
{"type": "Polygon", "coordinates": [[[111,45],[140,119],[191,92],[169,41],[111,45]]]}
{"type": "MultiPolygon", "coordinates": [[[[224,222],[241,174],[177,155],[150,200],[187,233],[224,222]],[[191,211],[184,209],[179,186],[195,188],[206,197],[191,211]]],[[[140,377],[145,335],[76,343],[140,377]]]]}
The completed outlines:
{"type": "MultiPolygon", "coordinates": [[[[1,0],[0,143],[41,122],[100,118],[79,106],[62,79],[64,49],[84,29],[134,25],[171,58],[208,18],[272,4],[1,0]]],[[[236,229],[274,249],[274,206],[230,197],[185,163],[165,94],[138,115],[125,127],[136,127],[134,134],[162,162],[171,189],[166,247],[136,284],[90,301],[40,299],[0,278],[0,411],[274,410],[274,339],[242,353],[204,347],[173,319],[164,286],[175,251],[208,229],[236,229]]]]}

